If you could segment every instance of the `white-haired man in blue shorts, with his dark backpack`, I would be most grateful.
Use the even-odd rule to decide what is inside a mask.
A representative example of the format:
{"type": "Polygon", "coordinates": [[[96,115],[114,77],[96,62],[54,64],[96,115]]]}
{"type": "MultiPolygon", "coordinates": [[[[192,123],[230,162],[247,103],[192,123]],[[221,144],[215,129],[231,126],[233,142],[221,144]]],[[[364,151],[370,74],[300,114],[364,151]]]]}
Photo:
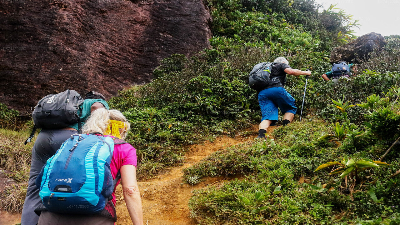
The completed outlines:
{"type": "Polygon", "coordinates": [[[265,138],[268,127],[278,122],[278,108],[284,113],[283,126],[292,122],[296,114],[295,100],[284,88],[286,74],[310,76],[311,71],[293,69],[286,58],[278,57],[273,63],[257,64],[250,72],[249,84],[251,88],[258,91],[258,102],[262,113],[257,138],[265,138]]]}

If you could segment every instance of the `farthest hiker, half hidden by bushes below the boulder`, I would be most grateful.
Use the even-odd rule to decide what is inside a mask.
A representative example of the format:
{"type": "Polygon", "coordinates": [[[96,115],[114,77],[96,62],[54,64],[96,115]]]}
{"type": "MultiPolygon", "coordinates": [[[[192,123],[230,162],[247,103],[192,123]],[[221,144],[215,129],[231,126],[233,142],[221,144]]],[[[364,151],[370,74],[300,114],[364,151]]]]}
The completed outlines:
{"type": "Polygon", "coordinates": [[[332,65],[329,72],[322,74],[324,80],[330,80],[337,84],[339,79],[348,78],[357,72],[357,66],[353,63],[347,64],[346,61],[340,61],[332,65]]]}

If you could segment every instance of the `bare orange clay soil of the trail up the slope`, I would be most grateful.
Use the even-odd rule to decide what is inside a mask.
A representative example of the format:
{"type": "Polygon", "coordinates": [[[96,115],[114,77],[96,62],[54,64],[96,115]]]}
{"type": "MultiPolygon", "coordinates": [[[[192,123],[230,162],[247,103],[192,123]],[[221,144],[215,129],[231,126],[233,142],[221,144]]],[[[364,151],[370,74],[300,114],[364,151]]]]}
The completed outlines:
{"type": "MultiPolygon", "coordinates": [[[[276,127],[270,127],[270,133],[276,127]]],[[[256,131],[258,126],[249,130],[256,131]]],[[[205,141],[201,145],[192,145],[185,155],[184,165],[174,167],[168,173],[146,181],[139,181],[140,195],[142,195],[143,220],[145,225],[196,225],[196,221],[190,218],[188,202],[192,197],[192,191],[202,189],[209,185],[222,184],[225,177],[206,177],[205,181],[197,185],[188,185],[182,182],[182,169],[192,166],[208,155],[254,139],[257,135],[249,137],[218,137],[214,142],[205,141]],[[222,181],[222,182],[219,182],[222,181]]],[[[232,178],[232,177],[231,177],[232,178]]],[[[131,225],[128,210],[126,209],[122,185],[116,191],[117,217],[116,225],[131,225]]]]}

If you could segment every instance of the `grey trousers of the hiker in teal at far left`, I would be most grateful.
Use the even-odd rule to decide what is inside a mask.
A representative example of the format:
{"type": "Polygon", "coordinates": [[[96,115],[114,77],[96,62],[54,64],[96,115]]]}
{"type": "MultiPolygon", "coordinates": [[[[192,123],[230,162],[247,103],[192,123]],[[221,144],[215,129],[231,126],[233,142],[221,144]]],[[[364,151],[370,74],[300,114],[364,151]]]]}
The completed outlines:
{"type": "Polygon", "coordinates": [[[39,216],[36,215],[34,210],[42,203],[42,200],[39,197],[39,189],[35,185],[36,177],[46,161],[56,154],[62,143],[76,133],[78,131],[44,129],[40,131],[32,148],[32,161],[30,163],[28,189],[22,208],[21,225],[36,225],[38,223],[39,216]]]}

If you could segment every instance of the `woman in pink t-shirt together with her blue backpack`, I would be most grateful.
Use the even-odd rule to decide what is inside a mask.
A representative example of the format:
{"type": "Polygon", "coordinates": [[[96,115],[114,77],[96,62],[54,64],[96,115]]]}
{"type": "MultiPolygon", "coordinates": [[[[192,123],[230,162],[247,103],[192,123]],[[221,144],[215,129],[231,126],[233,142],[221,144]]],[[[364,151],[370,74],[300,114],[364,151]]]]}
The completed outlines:
{"type": "MultiPolygon", "coordinates": [[[[129,129],[130,124],[128,123],[128,120],[118,110],[106,110],[105,108],[100,108],[92,112],[92,115],[90,115],[82,129],[83,133],[91,135],[75,135],[77,137],[72,137],[73,140],[67,140],[66,144],[64,145],[64,147],[67,147],[65,149],[62,147],[62,149],[58,151],[58,154],[54,156],[54,158],[58,158],[55,158],[46,164],[44,167],[46,172],[43,173],[43,177],[38,177],[37,183],[38,185],[42,185],[42,188],[40,189],[40,196],[43,197],[43,203],[46,205],[45,209],[42,208],[38,225],[113,225],[114,221],[116,221],[116,199],[114,193],[115,187],[120,183],[120,180],[122,180],[122,190],[124,193],[126,208],[128,209],[132,223],[134,225],[143,225],[142,201],[140,199],[139,187],[136,181],[136,150],[134,147],[132,147],[132,145],[123,141],[126,138],[129,129]],[[102,134],[104,134],[104,136],[102,134]],[[107,141],[107,145],[100,145],[100,143],[106,143],[107,141]],[[92,145],[87,146],[88,144],[92,145]],[[112,150],[110,165],[108,166],[108,164],[103,164],[104,172],[102,172],[100,169],[97,169],[99,167],[95,167],[96,169],[94,169],[92,165],[94,163],[99,163],[100,160],[98,158],[93,160],[90,157],[99,157],[100,155],[103,155],[103,159],[109,160],[110,155],[108,152],[111,152],[111,150],[109,150],[107,146],[112,144],[114,144],[114,149],[112,150]],[[98,149],[96,150],[97,155],[90,153],[90,149],[95,146],[97,146],[96,149],[98,149]],[[70,155],[71,147],[76,148],[77,152],[74,154],[78,155],[68,157],[68,155],[70,155]],[[101,149],[103,147],[105,149],[101,149]],[[63,156],[62,153],[64,151],[66,154],[63,156]],[[71,159],[68,164],[68,168],[72,173],[71,175],[68,175],[69,183],[63,182],[62,180],[50,180],[52,173],[55,175],[64,173],[66,170],[65,168],[67,167],[66,163],[68,161],[66,157],[71,159]],[[75,168],[82,167],[82,163],[79,163],[79,160],[75,159],[83,158],[86,160],[88,157],[88,161],[84,161],[83,163],[85,170],[76,171],[75,168]],[[66,163],[64,163],[64,160],[62,159],[66,159],[66,163]],[[59,160],[63,163],[57,165],[56,163],[59,160]],[[74,173],[74,171],[76,171],[76,173],[74,173]],[[110,171],[112,175],[110,179],[114,179],[113,182],[110,182],[112,187],[111,189],[105,188],[107,186],[104,186],[108,180],[106,179],[106,175],[108,175],[106,171],[110,171]],[[102,173],[102,176],[104,177],[104,183],[102,186],[103,188],[101,189],[102,193],[96,194],[96,190],[94,189],[94,187],[96,187],[94,178],[91,177],[96,177],[96,175],[100,177],[100,173],[102,173]],[[87,183],[89,184],[86,185],[87,183]],[[115,186],[113,183],[115,183],[115,186]],[[94,190],[91,191],[90,188],[94,190]],[[52,191],[53,189],[62,190],[57,190],[57,192],[55,192],[52,191]],[[64,189],[74,190],[74,195],[71,195],[71,193],[66,193],[68,191],[64,191],[64,189]],[[84,189],[84,191],[82,191],[82,189],[84,189]],[[104,191],[104,189],[106,191],[104,191]],[[75,190],[77,191],[75,192],[75,190]],[[108,194],[106,194],[107,192],[108,194]],[[103,198],[110,196],[110,198],[106,198],[104,201],[102,201],[103,205],[106,204],[105,208],[101,207],[100,209],[96,209],[97,205],[99,205],[97,201],[94,201],[93,205],[89,202],[89,200],[86,200],[98,199],[98,196],[103,198]],[[65,201],[70,202],[66,203],[65,201]],[[50,208],[53,212],[50,212],[50,208]],[[91,208],[100,213],[95,213],[92,215],[85,214],[92,211],[91,208]]],[[[98,190],[100,192],[100,189],[98,190]]]]}

